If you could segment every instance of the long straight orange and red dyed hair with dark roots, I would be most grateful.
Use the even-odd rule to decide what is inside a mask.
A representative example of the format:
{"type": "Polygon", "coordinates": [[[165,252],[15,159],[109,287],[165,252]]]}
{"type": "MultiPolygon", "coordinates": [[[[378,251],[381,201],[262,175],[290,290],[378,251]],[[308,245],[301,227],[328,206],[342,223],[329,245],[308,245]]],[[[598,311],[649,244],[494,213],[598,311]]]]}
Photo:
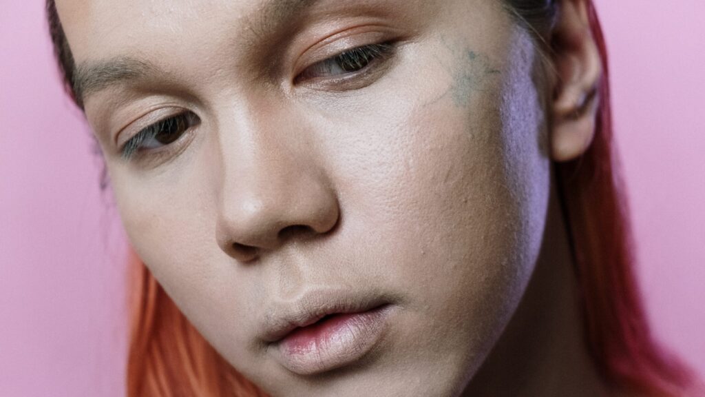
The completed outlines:
{"type": "MultiPolygon", "coordinates": [[[[570,1],[570,0],[566,0],[570,1]]],[[[603,379],[615,390],[644,396],[690,396],[697,379],[651,336],[635,278],[635,256],[625,193],[612,138],[607,49],[591,0],[584,0],[602,59],[600,105],[594,141],[578,160],[556,164],[563,216],[577,266],[587,348],[603,379]]],[[[558,0],[503,0],[517,23],[550,52],[546,33],[558,0]]],[[[75,64],[56,13],[47,20],[66,92],[75,64]]],[[[135,254],[130,256],[129,397],[259,397],[266,394],[219,355],[166,295],[135,254]]],[[[694,396],[694,394],[692,394],[694,396]]]]}

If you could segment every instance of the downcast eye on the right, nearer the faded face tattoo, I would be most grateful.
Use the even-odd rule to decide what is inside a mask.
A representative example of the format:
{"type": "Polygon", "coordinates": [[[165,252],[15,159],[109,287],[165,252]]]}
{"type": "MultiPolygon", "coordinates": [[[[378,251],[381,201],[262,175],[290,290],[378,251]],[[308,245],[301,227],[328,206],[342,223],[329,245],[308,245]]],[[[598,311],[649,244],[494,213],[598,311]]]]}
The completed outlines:
{"type": "Polygon", "coordinates": [[[342,52],[317,64],[309,66],[295,78],[295,82],[313,78],[339,78],[352,75],[389,57],[394,45],[386,42],[374,45],[364,45],[342,52]]]}

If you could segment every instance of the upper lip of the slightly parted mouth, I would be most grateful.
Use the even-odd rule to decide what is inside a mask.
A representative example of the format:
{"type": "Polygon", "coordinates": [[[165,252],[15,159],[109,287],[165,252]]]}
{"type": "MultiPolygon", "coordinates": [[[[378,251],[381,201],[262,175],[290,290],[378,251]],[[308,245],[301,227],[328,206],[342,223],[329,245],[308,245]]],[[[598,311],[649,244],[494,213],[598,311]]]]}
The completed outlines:
{"type": "Polygon", "coordinates": [[[274,343],[329,314],[367,312],[388,302],[379,295],[353,294],[349,288],[309,290],[296,300],[269,305],[259,327],[259,338],[274,343]]]}

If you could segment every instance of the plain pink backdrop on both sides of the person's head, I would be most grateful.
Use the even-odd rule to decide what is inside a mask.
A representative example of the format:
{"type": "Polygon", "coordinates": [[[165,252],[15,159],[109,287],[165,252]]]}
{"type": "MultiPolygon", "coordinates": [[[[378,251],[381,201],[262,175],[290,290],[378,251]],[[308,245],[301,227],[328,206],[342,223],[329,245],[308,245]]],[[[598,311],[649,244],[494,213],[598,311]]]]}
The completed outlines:
{"type": "MultiPolygon", "coordinates": [[[[0,396],[122,396],[123,232],[44,1],[1,1],[0,396]]],[[[597,4],[647,309],[705,374],[705,5],[597,4]]]]}

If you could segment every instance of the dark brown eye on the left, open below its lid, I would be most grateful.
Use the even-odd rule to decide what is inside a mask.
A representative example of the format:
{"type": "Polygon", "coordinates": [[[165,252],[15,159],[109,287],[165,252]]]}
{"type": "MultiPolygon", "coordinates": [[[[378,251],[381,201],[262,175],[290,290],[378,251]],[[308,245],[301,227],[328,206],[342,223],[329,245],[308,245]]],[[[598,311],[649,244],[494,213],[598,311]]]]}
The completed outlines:
{"type": "Polygon", "coordinates": [[[199,122],[195,113],[183,112],[147,126],[125,142],[122,148],[123,159],[130,160],[143,150],[159,149],[174,143],[199,122]]]}

